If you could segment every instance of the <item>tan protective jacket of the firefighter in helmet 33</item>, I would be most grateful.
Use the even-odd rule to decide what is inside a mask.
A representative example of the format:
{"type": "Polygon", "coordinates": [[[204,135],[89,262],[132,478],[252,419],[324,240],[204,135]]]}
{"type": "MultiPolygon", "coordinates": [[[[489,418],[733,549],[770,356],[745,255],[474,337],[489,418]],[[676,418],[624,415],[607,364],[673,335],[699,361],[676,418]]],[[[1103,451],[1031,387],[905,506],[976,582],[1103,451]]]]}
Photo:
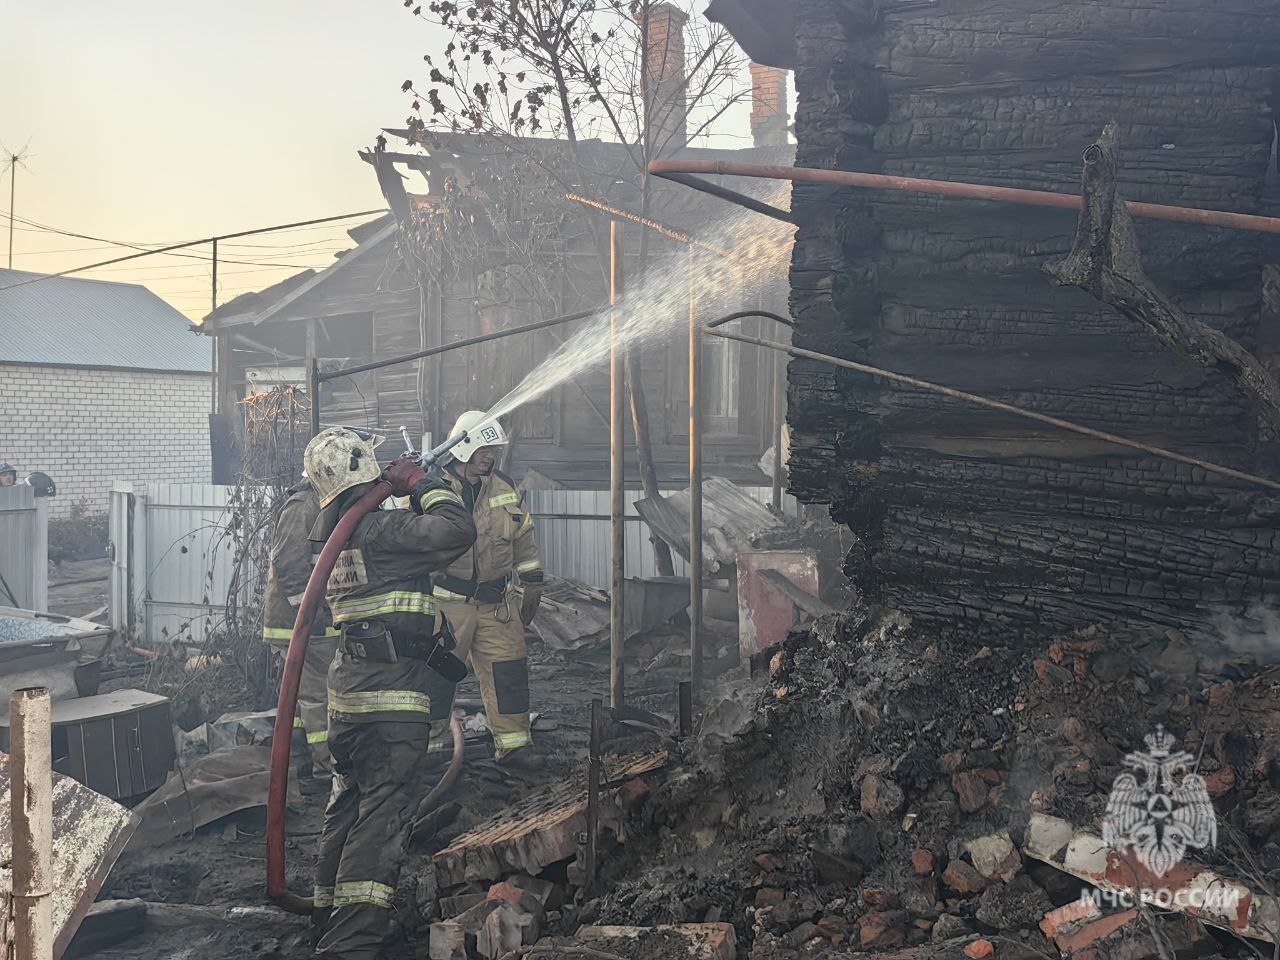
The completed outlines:
{"type": "Polygon", "coordinates": [[[534,518],[515,481],[494,470],[479,485],[467,483],[451,463],[444,471],[453,493],[475,517],[475,547],[435,576],[435,595],[447,599],[502,599],[515,573],[524,584],[543,581],[534,539],[534,518]]]}

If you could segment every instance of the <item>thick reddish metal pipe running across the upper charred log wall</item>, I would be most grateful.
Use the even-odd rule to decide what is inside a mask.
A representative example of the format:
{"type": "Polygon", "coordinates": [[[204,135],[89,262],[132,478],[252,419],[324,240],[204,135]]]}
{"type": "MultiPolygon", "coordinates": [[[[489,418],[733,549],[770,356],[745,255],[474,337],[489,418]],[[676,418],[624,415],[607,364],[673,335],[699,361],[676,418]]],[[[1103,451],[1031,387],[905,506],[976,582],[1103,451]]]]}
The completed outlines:
{"type": "MultiPolygon", "coordinates": [[[[1051,206],[1060,210],[1079,210],[1082,200],[1075,193],[1051,193],[1041,189],[1018,189],[1014,187],[989,187],[982,183],[960,183],[955,180],[927,180],[916,177],[888,177],[879,173],[858,173],[855,170],[819,170],[812,166],[777,166],[772,164],[742,164],[727,160],[654,160],[649,173],[676,183],[700,189],[713,196],[723,196],[724,189],[687,174],[716,174],[728,177],[754,177],[767,180],[791,180],[792,183],[824,183],[832,187],[858,187],[861,189],[888,189],[905,193],[927,193],[938,197],[959,197],[964,200],[995,200],[1001,204],[1020,204],[1024,206],[1051,206]]],[[[731,200],[731,197],[724,197],[731,200]]],[[[735,202],[740,202],[736,200],[735,202]]],[[[750,206],[758,210],[758,204],[750,206]]],[[[1190,206],[1167,206],[1165,204],[1142,204],[1125,201],[1129,212],[1148,220],[1172,220],[1175,223],[1198,223],[1207,227],[1225,227],[1235,230],[1257,233],[1280,233],[1280,218],[1256,216],[1253,214],[1234,214],[1225,210],[1201,210],[1190,206]]],[[[765,211],[760,211],[765,212],[765,211]]],[[[776,214],[769,214],[776,216],[776,214]]],[[[795,220],[787,218],[788,223],[795,220]]]]}

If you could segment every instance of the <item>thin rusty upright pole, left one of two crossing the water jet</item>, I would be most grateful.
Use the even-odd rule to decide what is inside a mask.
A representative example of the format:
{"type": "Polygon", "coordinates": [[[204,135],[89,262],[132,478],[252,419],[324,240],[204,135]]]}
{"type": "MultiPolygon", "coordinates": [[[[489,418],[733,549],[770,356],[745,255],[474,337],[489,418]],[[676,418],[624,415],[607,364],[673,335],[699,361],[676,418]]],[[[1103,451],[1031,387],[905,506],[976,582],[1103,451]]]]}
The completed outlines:
{"type": "Polygon", "coordinates": [[[609,220],[609,525],[612,543],[613,576],[609,590],[609,705],[621,707],[626,703],[626,677],[623,675],[622,654],[626,643],[626,618],[623,591],[627,532],[623,517],[627,512],[623,497],[626,483],[626,463],[623,449],[626,435],[623,426],[623,404],[626,403],[626,384],[623,381],[622,352],[618,343],[618,315],[613,308],[622,293],[618,274],[622,269],[622,230],[617,220],[609,220]]]}

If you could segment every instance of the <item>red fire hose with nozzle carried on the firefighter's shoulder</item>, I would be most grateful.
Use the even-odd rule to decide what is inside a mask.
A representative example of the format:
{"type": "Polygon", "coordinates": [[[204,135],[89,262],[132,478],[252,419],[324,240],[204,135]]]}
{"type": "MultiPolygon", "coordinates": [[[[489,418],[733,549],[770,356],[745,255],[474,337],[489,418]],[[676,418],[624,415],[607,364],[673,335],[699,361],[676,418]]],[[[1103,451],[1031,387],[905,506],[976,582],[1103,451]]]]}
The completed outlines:
{"type": "MultiPolygon", "coordinates": [[[[421,456],[412,449],[412,445],[406,439],[406,445],[410,445],[407,456],[412,457],[419,466],[430,467],[466,438],[466,433],[458,434],[421,456]]],[[[356,525],[367,513],[378,509],[383,504],[383,500],[390,495],[390,484],[385,479],[379,479],[338,520],[333,532],[329,534],[329,539],[325,540],[324,549],[320,550],[320,556],[316,558],[315,567],[311,570],[311,577],[307,580],[302,600],[298,603],[298,614],[293,621],[289,649],[284,655],[284,671],[280,676],[280,698],[275,707],[275,727],[271,735],[271,767],[266,790],[266,893],[276,906],[291,914],[306,916],[314,910],[311,897],[302,897],[292,892],[284,876],[284,801],[289,786],[289,746],[293,740],[293,712],[298,703],[302,662],[306,659],[311,626],[315,623],[316,613],[320,609],[320,599],[324,595],[325,585],[329,582],[329,575],[333,572],[334,563],[338,561],[338,554],[347,545],[356,525]]],[[[417,818],[422,818],[430,812],[431,804],[453,786],[462,771],[462,726],[458,723],[458,718],[452,716],[452,710],[449,728],[453,733],[453,756],[440,782],[419,805],[417,818]]]]}

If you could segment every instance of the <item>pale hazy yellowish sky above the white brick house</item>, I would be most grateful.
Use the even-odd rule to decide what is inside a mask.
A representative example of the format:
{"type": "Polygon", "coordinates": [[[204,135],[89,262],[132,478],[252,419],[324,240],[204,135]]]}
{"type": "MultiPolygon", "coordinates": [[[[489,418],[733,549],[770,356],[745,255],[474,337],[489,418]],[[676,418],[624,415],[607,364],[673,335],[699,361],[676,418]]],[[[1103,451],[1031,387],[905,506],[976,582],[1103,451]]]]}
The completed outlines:
{"type": "MultiPolygon", "coordinates": [[[[356,150],[403,123],[401,83],[421,81],[438,40],[401,0],[0,0],[0,143],[29,141],[31,154],[17,212],[154,244],[380,207],[356,150]]],[[[748,133],[745,108],[728,128],[748,133]]],[[[0,266],[8,209],[5,174],[0,266]]],[[[220,244],[220,257],[301,269],[351,246],[340,227],[243,243],[264,246],[220,244]]],[[[14,251],[14,268],[37,271],[128,252],[29,228],[14,251]]],[[[220,301],[291,273],[227,264],[220,301]]],[[[209,310],[209,265],[197,260],[83,275],[145,283],[193,319],[209,310]]]]}

